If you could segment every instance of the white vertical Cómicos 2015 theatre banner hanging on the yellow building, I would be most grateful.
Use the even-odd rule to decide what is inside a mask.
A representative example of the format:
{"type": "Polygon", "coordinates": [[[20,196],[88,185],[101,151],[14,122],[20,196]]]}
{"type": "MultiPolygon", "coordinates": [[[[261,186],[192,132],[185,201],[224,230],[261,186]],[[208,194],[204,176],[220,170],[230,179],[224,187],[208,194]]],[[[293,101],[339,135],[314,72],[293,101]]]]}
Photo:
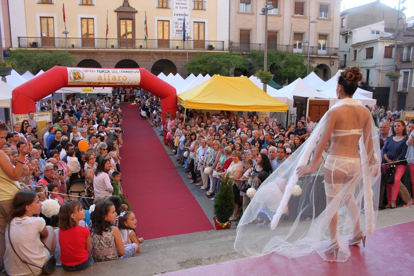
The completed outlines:
{"type": "Polygon", "coordinates": [[[190,0],[172,0],[173,2],[173,37],[183,38],[183,21],[185,33],[190,35],[190,0]]]}

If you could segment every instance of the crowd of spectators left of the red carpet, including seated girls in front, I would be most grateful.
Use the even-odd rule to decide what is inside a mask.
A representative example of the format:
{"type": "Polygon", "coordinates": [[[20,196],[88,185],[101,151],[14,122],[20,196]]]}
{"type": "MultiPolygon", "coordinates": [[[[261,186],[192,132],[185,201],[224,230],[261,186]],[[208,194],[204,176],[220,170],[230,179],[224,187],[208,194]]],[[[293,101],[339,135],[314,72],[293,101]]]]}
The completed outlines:
{"type": "Polygon", "coordinates": [[[120,186],[118,91],[128,92],[41,103],[53,111],[43,129],[33,112],[12,130],[0,124],[2,272],[40,275],[51,254],[65,270],[79,271],[140,252],[143,239],[135,235],[137,220],[120,186]],[[43,214],[48,202],[60,205],[52,216],[43,214]]]}

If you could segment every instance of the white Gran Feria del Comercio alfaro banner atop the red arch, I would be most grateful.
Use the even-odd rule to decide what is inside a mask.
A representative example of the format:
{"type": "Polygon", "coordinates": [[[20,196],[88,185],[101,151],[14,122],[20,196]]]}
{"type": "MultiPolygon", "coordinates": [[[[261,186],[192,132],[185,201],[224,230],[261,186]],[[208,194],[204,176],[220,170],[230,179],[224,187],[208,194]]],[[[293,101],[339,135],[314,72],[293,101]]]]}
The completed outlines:
{"type": "Polygon", "coordinates": [[[67,67],[67,84],[139,85],[140,70],[67,67]]]}

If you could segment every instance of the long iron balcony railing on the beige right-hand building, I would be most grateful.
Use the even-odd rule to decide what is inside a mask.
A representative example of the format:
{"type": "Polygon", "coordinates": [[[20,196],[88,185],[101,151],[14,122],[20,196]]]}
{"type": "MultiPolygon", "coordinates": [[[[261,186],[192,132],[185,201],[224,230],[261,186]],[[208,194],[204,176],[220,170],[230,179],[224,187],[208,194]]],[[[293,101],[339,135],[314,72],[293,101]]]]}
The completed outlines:
{"type": "MultiPolygon", "coordinates": [[[[268,51],[280,51],[285,53],[303,53],[310,55],[338,55],[338,48],[332,47],[315,47],[315,46],[297,46],[297,45],[282,45],[282,44],[268,44],[268,51]]],[[[239,42],[230,42],[229,51],[230,52],[250,52],[250,51],[264,51],[265,44],[263,43],[239,43],[239,42]]]]}

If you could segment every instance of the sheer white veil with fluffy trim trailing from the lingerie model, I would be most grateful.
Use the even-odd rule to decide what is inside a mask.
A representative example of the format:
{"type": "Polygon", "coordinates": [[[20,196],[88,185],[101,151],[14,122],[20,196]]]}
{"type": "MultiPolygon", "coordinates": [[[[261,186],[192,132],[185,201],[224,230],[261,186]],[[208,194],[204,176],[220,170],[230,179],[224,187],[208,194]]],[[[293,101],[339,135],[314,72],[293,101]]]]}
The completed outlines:
{"type": "MultiPolygon", "coordinates": [[[[344,105],[362,106],[362,103],[347,98],[332,108],[344,105]]],[[[357,223],[364,233],[373,234],[378,214],[378,172],[381,164],[379,137],[374,122],[371,119],[372,151],[367,152],[370,137],[361,135],[360,164],[357,164],[361,170],[341,186],[337,196],[326,206],[323,165],[328,150],[324,151],[322,156],[313,157],[313,153],[328,120],[329,116],[325,114],[308,140],[260,185],[239,221],[234,243],[237,252],[246,256],[277,252],[293,258],[310,254],[315,250],[323,260],[344,262],[350,255],[348,240],[353,238],[353,229],[357,223]],[[375,156],[373,166],[368,164],[368,156],[371,154],[375,156]],[[311,158],[320,158],[322,163],[311,175],[298,177],[298,166],[307,165],[311,158]],[[300,195],[300,189],[295,187],[296,185],[301,186],[300,195]],[[350,200],[356,202],[358,210],[347,208],[350,200]],[[334,254],[326,252],[326,247],[332,242],[328,226],[335,211],[338,211],[337,258],[334,254]],[[256,225],[263,218],[270,220],[269,227],[256,225]]]]}

